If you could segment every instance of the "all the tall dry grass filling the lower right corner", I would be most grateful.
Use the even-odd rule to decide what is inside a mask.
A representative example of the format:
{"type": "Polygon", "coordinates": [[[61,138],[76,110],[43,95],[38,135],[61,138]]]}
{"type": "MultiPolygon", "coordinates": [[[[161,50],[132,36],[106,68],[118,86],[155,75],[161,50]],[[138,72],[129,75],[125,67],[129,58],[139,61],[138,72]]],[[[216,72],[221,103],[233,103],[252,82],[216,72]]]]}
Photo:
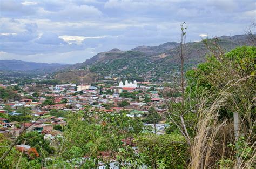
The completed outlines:
{"type": "MultiPolygon", "coordinates": [[[[233,98],[230,89],[243,79],[233,80],[225,85],[217,95],[199,100],[198,123],[194,131],[194,138],[191,145],[191,156],[189,168],[254,168],[255,166],[255,131],[248,130],[247,121],[244,119],[250,116],[243,113],[239,134],[245,137],[243,141],[235,140],[233,121],[219,120],[221,107],[227,106],[227,100],[233,98]],[[250,132],[248,132],[250,131],[250,132]],[[239,142],[240,141],[240,142],[239,142]]],[[[252,100],[248,100],[252,103],[252,100]]],[[[234,103],[235,104],[235,103],[234,103]]],[[[247,103],[246,103],[247,104],[247,103]]],[[[244,104],[244,105],[246,105],[244,104]]],[[[234,105],[234,107],[237,105],[234,105]]],[[[247,104],[247,109],[252,108],[252,104],[247,104]]],[[[244,110],[246,107],[244,107],[244,110]]],[[[255,128],[255,121],[252,121],[251,129],[255,128]]]]}

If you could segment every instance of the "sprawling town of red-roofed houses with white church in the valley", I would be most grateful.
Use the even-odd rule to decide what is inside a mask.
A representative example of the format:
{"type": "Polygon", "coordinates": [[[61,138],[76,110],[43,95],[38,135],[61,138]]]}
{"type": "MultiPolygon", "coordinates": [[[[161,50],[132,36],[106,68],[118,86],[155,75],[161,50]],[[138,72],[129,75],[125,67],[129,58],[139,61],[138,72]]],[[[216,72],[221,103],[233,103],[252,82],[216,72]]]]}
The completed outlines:
{"type": "MultiPolygon", "coordinates": [[[[169,126],[165,118],[165,99],[160,94],[164,88],[160,84],[136,80],[123,83],[120,78],[111,76],[95,84],[83,83],[83,77],[80,81],[78,85],[0,85],[0,133],[16,139],[24,133],[38,132],[54,147],[55,139],[63,135],[68,114],[88,109],[139,118],[144,121],[145,131],[158,135],[164,134],[169,126]]],[[[176,94],[176,102],[180,102],[179,96],[176,94]]],[[[130,143],[132,139],[129,138],[130,143]]],[[[25,143],[15,147],[23,151],[32,148],[25,143]]]]}

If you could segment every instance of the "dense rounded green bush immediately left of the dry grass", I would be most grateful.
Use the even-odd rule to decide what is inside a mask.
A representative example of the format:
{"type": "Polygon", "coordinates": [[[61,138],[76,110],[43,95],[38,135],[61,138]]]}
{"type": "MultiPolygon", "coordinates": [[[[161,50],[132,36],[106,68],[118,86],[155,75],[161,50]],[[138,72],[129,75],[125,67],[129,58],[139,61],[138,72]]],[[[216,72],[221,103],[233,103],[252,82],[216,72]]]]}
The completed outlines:
{"type": "Polygon", "coordinates": [[[179,134],[139,136],[139,151],[145,157],[145,164],[152,168],[184,168],[188,159],[188,145],[179,134]]]}

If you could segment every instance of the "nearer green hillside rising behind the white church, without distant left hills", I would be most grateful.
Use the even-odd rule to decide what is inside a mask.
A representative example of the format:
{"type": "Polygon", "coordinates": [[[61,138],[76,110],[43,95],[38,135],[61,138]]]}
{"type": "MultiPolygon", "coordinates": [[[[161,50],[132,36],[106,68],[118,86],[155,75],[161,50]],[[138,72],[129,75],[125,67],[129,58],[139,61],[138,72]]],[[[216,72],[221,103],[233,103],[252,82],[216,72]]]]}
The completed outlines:
{"type": "MultiPolygon", "coordinates": [[[[228,52],[237,46],[248,44],[246,37],[247,35],[221,36],[202,40],[201,42],[186,43],[185,70],[204,62],[206,53],[210,51],[209,46],[212,46],[212,48],[221,46],[225,52],[228,52]],[[206,46],[206,42],[208,46],[206,46]]],[[[77,69],[85,69],[84,75],[90,72],[97,79],[114,75],[122,78],[133,77],[137,80],[151,79],[161,82],[168,80],[172,73],[180,71],[178,46],[179,43],[169,42],[152,47],[139,46],[130,51],[113,49],[98,53],[84,63],[72,65],[69,69],[62,71],[73,74],[72,80],[76,82],[79,82],[80,77],[75,78],[77,71],[72,70],[77,69]]],[[[56,78],[64,82],[66,80],[64,78],[65,73],[57,72],[56,78]]],[[[86,82],[91,81],[90,78],[84,78],[84,80],[86,82]]]]}

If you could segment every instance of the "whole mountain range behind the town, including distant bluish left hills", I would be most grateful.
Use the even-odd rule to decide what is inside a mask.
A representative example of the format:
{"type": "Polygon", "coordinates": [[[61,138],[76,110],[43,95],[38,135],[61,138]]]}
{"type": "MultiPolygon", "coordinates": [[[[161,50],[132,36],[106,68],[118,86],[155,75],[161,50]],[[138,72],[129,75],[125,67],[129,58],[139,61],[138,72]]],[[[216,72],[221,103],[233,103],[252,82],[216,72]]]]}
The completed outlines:
{"type": "MultiPolygon", "coordinates": [[[[249,45],[247,35],[221,36],[207,39],[207,44],[214,46],[216,43],[225,51],[230,51],[237,46],[249,45]]],[[[104,76],[115,76],[130,80],[166,80],[173,73],[179,72],[180,59],[177,51],[177,42],[167,42],[158,46],[138,46],[128,51],[112,49],[100,52],[83,63],[73,65],[46,64],[23,62],[19,60],[0,60],[0,69],[4,70],[38,70],[54,72],[53,77],[62,82],[80,82],[81,74],[86,83],[96,82],[104,76]]],[[[204,62],[207,46],[202,41],[188,42],[185,44],[186,58],[185,69],[196,67],[204,62]]]]}

